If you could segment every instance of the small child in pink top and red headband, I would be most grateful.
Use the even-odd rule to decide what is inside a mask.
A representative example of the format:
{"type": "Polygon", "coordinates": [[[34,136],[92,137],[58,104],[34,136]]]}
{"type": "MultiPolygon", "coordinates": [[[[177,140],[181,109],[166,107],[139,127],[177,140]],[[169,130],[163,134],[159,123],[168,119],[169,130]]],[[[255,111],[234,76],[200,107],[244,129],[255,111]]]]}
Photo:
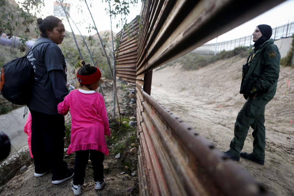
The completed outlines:
{"type": "Polygon", "coordinates": [[[111,137],[103,96],[94,90],[99,87],[101,72],[97,67],[82,61],[77,72],[80,88],[70,91],[58,104],[58,112],[66,115],[70,109],[71,136],[67,154],[76,152],[72,190],[82,194],[89,153],[93,166],[95,189],[105,185],[103,175],[104,154],[108,149],[104,135],[111,137]]]}

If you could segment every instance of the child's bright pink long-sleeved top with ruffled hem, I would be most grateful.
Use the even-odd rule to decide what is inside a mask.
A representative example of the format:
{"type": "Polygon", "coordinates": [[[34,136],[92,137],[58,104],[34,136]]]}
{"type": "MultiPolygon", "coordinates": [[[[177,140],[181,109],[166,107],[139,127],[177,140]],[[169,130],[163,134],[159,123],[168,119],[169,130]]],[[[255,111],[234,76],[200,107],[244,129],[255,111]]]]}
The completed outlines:
{"type": "Polygon", "coordinates": [[[108,155],[104,135],[110,135],[103,96],[95,91],[72,90],[58,104],[58,113],[70,109],[71,134],[67,154],[78,150],[98,150],[108,155]]]}

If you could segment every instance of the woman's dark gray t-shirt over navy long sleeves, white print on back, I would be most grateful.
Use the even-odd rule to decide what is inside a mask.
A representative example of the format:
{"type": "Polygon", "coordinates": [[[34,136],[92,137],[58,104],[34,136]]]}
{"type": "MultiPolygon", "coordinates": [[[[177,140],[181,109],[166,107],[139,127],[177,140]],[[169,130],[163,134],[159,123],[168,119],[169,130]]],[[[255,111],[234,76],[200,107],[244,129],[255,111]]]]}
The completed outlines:
{"type": "Polygon", "coordinates": [[[65,57],[57,44],[48,38],[39,37],[34,46],[27,55],[35,72],[28,108],[45,114],[58,114],[57,105],[68,94],[65,57]]]}

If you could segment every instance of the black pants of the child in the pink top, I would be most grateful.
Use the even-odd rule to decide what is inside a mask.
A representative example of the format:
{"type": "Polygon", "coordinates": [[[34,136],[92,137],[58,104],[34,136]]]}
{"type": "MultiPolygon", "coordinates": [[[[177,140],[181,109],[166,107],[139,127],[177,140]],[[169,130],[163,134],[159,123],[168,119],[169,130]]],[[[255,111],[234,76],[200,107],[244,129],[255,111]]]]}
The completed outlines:
{"type": "Polygon", "coordinates": [[[90,160],[93,167],[93,178],[94,181],[101,182],[104,178],[103,174],[103,161],[104,153],[97,150],[79,150],[76,151],[76,160],[74,163],[74,185],[84,184],[86,166],[88,164],[90,153],[90,160]]]}

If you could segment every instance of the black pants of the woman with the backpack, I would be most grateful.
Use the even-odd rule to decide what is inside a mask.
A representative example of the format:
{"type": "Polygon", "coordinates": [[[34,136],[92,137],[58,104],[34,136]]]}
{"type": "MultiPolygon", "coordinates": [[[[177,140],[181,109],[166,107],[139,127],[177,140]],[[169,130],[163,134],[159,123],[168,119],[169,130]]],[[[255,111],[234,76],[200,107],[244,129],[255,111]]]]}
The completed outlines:
{"type": "Polygon", "coordinates": [[[30,111],[35,172],[44,173],[52,169],[52,180],[64,179],[67,171],[67,164],[63,161],[64,116],[30,111]]]}

